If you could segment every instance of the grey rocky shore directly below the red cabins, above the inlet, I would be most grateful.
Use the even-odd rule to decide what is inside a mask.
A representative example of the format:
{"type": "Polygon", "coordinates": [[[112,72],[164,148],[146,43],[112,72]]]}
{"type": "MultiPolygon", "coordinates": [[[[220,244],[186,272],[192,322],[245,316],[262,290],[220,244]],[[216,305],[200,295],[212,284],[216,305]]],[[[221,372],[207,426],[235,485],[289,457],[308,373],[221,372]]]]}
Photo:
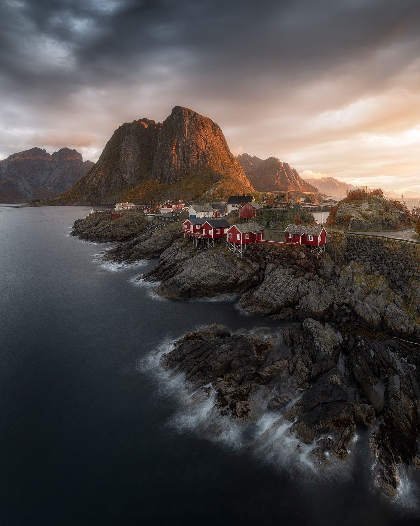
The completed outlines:
{"type": "Polygon", "coordinates": [[[237,307],[272,320],[354,318],[388,335],[420,341],[420,254],[413,245],[330,232],[322,257],[306,247],[248,246],[238,259],[220,242],[198,250],[179,224],[115,227],[75,222],[82,239],[125,242],[104,260],[158,258],[141,278],[172,300],[237,294],[237,307]]]}

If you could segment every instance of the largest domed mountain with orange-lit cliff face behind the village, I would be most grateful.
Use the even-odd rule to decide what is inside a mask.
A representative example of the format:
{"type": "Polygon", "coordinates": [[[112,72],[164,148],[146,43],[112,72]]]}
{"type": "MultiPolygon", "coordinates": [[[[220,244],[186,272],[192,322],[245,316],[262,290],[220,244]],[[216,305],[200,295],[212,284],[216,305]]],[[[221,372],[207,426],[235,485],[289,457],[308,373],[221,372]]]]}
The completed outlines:
{"type": "Polygon", "coordinates": [[[254,191],[211,119],[175,106],[163,123],[122,124],[95,166],[50,205],[171,197],[226,197],[254,191]]]}

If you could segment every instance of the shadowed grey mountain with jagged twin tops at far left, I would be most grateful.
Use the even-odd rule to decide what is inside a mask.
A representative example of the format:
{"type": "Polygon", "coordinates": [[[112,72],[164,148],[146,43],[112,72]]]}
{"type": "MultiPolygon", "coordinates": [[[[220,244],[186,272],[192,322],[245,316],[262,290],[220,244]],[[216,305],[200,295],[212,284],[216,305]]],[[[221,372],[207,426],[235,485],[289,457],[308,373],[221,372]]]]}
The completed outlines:
{"type": "Polygon", "coordinates": [[[19,151],[0,161],[0,202],[21,203],[55,197],[71,188],[94,165],[76,150],[53,155],[40,148],[19,151]]]}

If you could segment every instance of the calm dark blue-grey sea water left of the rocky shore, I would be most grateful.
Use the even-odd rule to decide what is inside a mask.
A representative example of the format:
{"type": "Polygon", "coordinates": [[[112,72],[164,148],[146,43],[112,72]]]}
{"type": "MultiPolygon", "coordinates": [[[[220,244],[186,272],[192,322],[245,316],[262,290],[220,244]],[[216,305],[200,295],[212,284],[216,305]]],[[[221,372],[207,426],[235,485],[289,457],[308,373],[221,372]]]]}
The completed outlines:
{"type": "Polygon", "coordinates": [[[103,246],[68,237],[88,208],[0,205],[2,526],[418,524],[372,497],[362,468],[298,483],[171,427],[176,402],[138,360],[205,323],[267,323],[151,297],[130,280],[154,261],[103,268],[103,246]]]}

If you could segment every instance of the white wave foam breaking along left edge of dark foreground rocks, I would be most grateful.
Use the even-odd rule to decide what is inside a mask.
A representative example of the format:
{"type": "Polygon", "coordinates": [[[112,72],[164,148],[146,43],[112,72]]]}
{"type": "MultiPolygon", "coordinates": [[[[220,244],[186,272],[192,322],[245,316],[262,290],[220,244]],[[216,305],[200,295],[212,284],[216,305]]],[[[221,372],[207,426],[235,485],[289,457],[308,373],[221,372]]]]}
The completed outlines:
{"type": "Polygon", "coordinates": [[[211,385],[191,391],[185,385],[184,373],[175,374],[160,366],[161,357],[174,348],[175,341],[164,341],[138,362],[139,370],[153,375],[159,395],[176,401],[176,410],[167,421],[168,426],[179,433],[193,432],[232,451],[249,451],[259,461],[292,477],[305,480],[349,479],[356,439],[349,446],[348,461],[334,462],[331,458],[330,466],[319,470],[310,458],[310,453],[317,446],[316,441],[310,444],[301,442],[290,432],[293,422],[281,420],[283,413],[299,397],[293,398],[282,411],[269,411],[267,406],[271,392],[261,389],[249,400],[251,412],[257,415],[255,419],[243,421],[229,414],[222,416],[216,407],[216,392],[211,385]]]}

